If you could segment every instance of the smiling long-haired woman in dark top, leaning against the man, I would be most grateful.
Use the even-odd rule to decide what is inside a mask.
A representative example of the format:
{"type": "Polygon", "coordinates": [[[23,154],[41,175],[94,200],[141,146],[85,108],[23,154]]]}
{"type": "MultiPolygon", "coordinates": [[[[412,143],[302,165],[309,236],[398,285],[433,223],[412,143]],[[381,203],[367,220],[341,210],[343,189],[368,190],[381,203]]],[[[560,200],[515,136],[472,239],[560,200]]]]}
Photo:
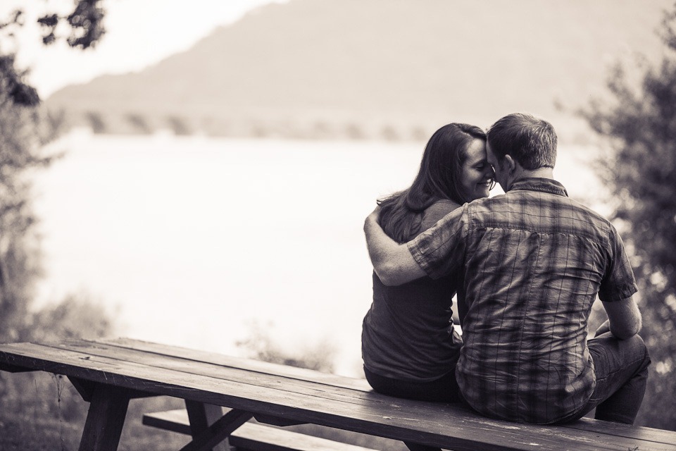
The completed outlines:
{"type": "MultiPolygon", "coordinates": [[[[427,142],[411,187],[380,204],[380,226],[403,243],[494,186],[486,134],[451,123],[427,142]]],[[[387,287],[373,273],[373,303],[364,317],[362,357],[377,392],[416,400],[457,402],[455,368],[462,339],[453,329],[452,297],[459,280],[420,278],[387,287]]]]}

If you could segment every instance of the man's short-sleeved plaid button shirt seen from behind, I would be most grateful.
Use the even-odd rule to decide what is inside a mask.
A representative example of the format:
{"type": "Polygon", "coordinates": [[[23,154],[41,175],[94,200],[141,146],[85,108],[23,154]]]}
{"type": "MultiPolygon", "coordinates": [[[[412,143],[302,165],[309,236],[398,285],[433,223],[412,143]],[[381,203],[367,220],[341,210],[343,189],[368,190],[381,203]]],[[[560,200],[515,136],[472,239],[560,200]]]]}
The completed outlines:
{"type": "Polygon", "coordinates": [[[578,412],[594,390],[587,319],[637,291],[620,235],[546,178],[478,199],[408,249],[432,278],[462,271],[467,313],[456,369],[487,416],[547,424],[578,412]]]}

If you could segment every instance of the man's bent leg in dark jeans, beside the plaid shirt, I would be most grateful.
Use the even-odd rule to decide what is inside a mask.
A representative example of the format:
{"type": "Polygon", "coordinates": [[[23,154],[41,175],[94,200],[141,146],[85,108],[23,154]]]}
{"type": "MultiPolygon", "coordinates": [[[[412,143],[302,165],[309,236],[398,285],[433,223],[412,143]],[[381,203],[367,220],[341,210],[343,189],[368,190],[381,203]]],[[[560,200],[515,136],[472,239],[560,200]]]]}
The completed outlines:
{"type": "Polygon", "coordinates": [[[634,424],[648,380],[650,357],[643,339],[618,340],[603,333],[589,340],[596,388],[585,412],[596,407],[596,419],[634,424]]]}

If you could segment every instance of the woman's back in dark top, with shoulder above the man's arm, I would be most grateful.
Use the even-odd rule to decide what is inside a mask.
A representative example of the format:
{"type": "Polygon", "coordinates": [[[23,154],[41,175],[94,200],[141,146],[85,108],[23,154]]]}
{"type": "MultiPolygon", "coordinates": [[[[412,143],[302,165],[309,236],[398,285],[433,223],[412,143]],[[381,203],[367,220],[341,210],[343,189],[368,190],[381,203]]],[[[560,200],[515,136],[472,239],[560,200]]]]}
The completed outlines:
{"type": "MultiPolygon", "coordinates": [[[[443,199],[427,207],[418,233],[460,205],[443,199]]],[[[373,273],[373,304],[364,317],[362,356],[380,376],[432,381],[455,368],[462,345],[453,330],[452,297],[458,280],[420,278],[396,287],[373,273]]]]}

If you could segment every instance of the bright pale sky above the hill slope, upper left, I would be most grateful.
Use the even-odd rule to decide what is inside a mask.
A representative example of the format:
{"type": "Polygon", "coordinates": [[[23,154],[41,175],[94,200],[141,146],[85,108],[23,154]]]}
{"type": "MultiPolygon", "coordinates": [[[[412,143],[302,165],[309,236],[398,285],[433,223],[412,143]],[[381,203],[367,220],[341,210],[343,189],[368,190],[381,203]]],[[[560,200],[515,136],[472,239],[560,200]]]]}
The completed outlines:
{"type": "Polygon", "coordinates": [[[35,18],[68,11],[73,0],[2,0],[0,20],[18,6],[26,21],[15,43],[1,42],[1,51],[16,51],[20,68],[30,68],[29,82],[45,99],[73,83],[105,73],[135,72],[178,51],[187,50],[215,27],[242,18],[269,3],[287,0],[104,0],[106,35],[95,49],[70,49],[61,42],[42,46],[35,18]]]}

